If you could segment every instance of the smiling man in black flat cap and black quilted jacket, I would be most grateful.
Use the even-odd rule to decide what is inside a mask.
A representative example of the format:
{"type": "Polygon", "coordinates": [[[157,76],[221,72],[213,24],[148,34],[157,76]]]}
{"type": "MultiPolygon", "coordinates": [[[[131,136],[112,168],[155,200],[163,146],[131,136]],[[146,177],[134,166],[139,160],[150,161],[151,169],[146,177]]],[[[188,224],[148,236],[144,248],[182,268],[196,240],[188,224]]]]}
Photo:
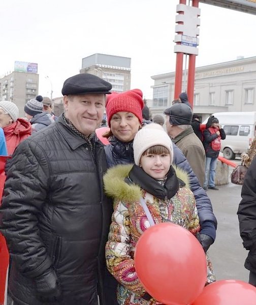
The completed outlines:
{"type": "Polygon", "coordinates": [[[15,305],[104,304],[112,204],[103,193],[106,158],[94,131],[111,88],[91,74],[70,77],[62,88],[65,112],[15,150],[0,208],[15,305]]]}

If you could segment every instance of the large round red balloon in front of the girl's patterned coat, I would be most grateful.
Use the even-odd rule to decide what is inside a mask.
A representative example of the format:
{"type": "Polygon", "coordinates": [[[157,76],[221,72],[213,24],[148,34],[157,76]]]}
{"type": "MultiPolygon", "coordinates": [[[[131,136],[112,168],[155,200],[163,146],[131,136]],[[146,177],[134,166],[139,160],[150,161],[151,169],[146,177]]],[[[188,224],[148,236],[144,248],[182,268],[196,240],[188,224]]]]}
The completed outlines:
{"type": "Polygon", "coordinates": [[[145,290],[167,305],[190,304],[206,283],[206,256],[200,242],[172,223],[147,229],[138,240],[134,261],[145,290]]]}

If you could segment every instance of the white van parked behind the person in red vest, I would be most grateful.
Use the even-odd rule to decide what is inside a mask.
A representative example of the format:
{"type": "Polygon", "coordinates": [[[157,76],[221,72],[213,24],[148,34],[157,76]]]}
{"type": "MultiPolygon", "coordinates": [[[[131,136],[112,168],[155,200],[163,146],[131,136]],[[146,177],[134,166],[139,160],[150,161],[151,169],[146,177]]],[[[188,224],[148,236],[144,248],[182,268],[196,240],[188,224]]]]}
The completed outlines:
{"type": "MultiPolygon", "coordinates": [[[[255,137],[256,111],[216,112],[219,125],[225,130],[226,139],[221,140],[220,151],[226,159],[235,159],[247,152],[255,137]]],[[[208,118],[203,122],[207,123],[208,118]]]]}

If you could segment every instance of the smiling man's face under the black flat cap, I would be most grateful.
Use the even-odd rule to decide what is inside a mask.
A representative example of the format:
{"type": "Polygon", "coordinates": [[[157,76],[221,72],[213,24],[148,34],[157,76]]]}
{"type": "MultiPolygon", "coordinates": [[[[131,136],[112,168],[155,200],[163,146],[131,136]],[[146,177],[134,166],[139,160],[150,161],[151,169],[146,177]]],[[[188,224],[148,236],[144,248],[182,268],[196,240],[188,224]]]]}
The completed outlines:
{"type": "Polygon", "coordinates": [[[105,107],[104,94],[64,96],[63,101],[66,117],[85,136],[101,125],[105,107]]]}

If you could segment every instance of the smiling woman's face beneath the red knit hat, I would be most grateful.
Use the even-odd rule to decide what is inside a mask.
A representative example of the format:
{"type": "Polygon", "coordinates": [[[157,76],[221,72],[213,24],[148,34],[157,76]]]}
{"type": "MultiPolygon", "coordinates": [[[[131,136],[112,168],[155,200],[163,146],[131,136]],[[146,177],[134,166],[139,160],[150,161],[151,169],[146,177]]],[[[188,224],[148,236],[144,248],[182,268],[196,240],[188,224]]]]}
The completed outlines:
{"type": "Polygon", "coordinates": [[[140,121],[132,112],[119,111],[113,114],[110,120],[113,135],[122,142],[132,141],[139,127],[140,121]]]}

